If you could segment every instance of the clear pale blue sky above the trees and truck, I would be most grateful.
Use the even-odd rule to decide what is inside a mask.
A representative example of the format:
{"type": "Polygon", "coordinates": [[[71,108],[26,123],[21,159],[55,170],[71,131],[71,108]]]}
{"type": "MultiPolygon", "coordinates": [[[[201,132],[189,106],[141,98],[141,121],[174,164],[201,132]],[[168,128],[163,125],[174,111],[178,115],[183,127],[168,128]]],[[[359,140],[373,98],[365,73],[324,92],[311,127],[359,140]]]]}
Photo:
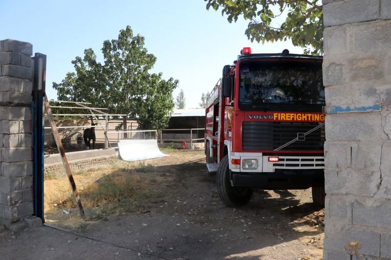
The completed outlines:
{"type": "Polygon", "coordinates": [[[244,35],[245,20],[229,23],[205,6],[204,0],[0,0],[0,40],[28,41],[33,52],[47,55],[46,93],[57,99],[52,82],[73,70],[70,61],[86,48],[99,54],[104,40],[117,38],[130,25],[157,57],[152,72],[179,80],[174,97],[182,88],[187,108],[198,106],[223,65],[232,64],[244,46],[253,53],[303,52],[290,41],[251,43],[244,35]]]}

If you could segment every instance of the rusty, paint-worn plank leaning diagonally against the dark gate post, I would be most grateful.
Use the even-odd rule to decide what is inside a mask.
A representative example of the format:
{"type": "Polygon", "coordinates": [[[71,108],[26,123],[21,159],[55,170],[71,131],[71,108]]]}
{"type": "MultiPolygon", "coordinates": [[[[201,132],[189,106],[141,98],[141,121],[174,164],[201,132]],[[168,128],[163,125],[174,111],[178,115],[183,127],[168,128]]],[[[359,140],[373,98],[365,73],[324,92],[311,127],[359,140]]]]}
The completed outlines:
{"type": "Polygon", "coordinates": [[[68,160],[66,159],[66,156],[65,156],[65,150],[63,147],[63,143],[61,142],[56,123],[54,122],[53,113],[50,108],[49,101],[47,100],[46,95],[45,95],[45,108],[46,108],[47,118],[49,119],[49,123],[52,128],[53,135],[54,135],[54,140],[56,141],[58,151],[60,152],[61,160],[63,160],[63,165],[64,165],[66,176],[68,177],[69,184],[72,188],[73,195],[75,195],[77,206],[79,207],[80,216],[84,219],[86,216],[84,214],[82,201],[80,200],[79,193],[77,192],[75,180],[73,180],[73,176],[70,171],[69,163],[68,163],[68,160]]]}

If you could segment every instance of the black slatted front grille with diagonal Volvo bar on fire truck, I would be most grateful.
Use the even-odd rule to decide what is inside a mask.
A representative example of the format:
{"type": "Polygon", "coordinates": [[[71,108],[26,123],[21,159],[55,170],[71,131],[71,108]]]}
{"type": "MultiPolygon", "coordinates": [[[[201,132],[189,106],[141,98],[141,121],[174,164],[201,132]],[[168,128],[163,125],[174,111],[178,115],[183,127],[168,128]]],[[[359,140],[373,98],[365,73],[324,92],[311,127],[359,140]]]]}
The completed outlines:
{"type": "MultiPolygon", "coordinates": [[[[242,149],[244,151],[272,151],[319,126],[318,122],[265,122],[244,121],[242,125],[242,149]]],[[[314,151],[323,150],[325,126],[297,140],[280,151],[314,151]]]]}

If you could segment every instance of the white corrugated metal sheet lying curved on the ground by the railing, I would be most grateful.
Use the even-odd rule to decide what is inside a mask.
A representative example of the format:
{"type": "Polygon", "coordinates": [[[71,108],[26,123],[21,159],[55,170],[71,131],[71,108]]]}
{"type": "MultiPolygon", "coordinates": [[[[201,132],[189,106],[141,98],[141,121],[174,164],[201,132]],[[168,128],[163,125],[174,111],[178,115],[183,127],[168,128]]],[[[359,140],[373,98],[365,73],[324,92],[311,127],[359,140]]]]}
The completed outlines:
{"type": "Polygon", "coordinates": [[[157,147],[157,140],[131,140],[118,141],[119,154],[122,160],[146,160],[168,156],[160,152],[157,147]]]}

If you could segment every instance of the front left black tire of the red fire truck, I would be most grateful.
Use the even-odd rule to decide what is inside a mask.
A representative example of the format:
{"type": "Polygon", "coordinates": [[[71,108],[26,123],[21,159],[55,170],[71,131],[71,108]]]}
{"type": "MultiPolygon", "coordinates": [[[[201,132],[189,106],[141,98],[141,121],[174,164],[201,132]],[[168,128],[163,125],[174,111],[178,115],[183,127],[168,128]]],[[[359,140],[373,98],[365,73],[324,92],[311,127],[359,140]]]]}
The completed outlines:
{"type": "Polygon", "coordinates": [[[228,207],[240,207],[250,201],[253,190],[250,188],[233,187],[230,180],[228,155],[220,161],[216,174],[218,196],[228,207]]]}

